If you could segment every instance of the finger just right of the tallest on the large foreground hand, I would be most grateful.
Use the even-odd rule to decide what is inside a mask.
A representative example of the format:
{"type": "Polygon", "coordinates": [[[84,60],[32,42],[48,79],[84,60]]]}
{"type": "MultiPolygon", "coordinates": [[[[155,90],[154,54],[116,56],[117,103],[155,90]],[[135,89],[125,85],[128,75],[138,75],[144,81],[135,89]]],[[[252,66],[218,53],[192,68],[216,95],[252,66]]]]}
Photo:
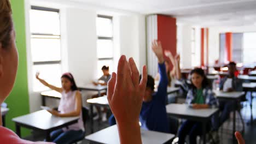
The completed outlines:
{"type": "Polygon", "coordinates": [[[138,88],[138,85],[139,85],[139,72],[138,72],[136,63],[134,62],[132,57],[129,58],[129,63],[130,63],[131,71],[132,71],[132,83],[133,83],[133,86],[138,88]]]}

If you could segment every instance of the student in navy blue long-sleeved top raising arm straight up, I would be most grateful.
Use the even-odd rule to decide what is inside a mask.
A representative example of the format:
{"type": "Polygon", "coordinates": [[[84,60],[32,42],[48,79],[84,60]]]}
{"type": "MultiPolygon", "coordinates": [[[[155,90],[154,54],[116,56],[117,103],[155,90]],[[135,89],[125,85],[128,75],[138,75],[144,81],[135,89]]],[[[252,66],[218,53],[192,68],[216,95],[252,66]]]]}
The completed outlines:
{"type": "MultiPolygon", "coordinates": [[[[153,41],[152,49],[156,57],[158,57],[160,82],[158,91],[154,92],[154,79],[152,76],[148,75],[147,88],[143,97],[139,121],[142,124],[141,127],[144,129],[169,133],[170,127],[165,107],[168,79],[166,75],[164,55],[160,41],[153,41]]],[[[110,117],[109,122],[110,125],[115,124],[114,116],[110,117]]]]}

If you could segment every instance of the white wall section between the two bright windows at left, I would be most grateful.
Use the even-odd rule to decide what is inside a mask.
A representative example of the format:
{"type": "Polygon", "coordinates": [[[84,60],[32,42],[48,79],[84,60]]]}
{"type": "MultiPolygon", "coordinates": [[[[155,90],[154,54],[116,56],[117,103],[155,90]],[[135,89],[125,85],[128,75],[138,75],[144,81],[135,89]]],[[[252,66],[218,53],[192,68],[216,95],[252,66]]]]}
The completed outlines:
{"type": "Polygon", "coordinates": [[[96,11],[67,8],[68,71],[77,85],[90,83],[97,73],[96,11]]]}

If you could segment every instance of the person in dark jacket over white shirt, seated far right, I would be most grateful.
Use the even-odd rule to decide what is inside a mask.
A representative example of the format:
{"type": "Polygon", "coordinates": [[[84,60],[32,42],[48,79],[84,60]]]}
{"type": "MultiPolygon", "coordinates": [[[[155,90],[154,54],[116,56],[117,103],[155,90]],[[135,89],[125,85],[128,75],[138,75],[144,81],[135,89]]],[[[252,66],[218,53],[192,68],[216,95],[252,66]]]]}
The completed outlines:
{"type": "MultiPolygon", "coordinates": [[[[229,75],[220,80],[219,88],[224,92],[243,90],[242,81],[236,77],[236,63],[230,62],[228,65],[229,75]]],[[[234,111],[236,107],[235,101],[219,100],[219,110],[222,112],[219,118],[219,125],[222,125],[226,119],[229,118],[230,112],[234,111]]]]}

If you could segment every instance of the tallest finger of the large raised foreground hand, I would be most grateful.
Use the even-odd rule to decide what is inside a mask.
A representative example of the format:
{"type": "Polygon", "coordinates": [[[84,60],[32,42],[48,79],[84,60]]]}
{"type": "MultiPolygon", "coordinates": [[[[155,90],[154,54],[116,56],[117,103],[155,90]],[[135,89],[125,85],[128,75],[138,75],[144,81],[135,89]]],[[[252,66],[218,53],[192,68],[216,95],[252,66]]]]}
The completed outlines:
{"type": "Polygon", "coordinates": [[[125,81],[125,73],[126,71],[124,70],[126,62],[126,57],[123,55],[120,57],[119,62],[118,62],[118,70],[117,70],[117,85],[120,86],[122,83],[125,81]]]}

